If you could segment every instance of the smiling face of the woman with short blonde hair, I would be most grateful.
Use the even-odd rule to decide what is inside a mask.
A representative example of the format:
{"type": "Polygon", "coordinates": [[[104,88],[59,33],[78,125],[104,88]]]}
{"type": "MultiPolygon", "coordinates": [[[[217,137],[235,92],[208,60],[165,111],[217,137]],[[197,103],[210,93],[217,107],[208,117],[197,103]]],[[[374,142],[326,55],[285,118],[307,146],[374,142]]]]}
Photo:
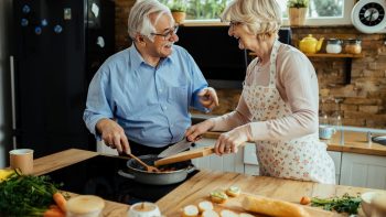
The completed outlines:
{"type": "Polygon", "coordinates": [[[240,22],[230,21],[228,34],[238,40],[238,48],[240,50],[251,50],[257,43],[256,35],[249,33],[240,22]]]}

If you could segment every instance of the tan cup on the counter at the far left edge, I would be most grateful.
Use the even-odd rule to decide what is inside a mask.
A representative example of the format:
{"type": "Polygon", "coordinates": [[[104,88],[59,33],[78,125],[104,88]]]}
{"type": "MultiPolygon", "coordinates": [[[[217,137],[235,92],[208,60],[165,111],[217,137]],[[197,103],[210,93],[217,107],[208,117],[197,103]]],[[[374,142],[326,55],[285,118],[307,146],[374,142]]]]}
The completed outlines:
{"type": "Polygon", "coordinates": [[[33,150],[32,149],[14,149],[10,151],[11,169],[19,169],[22,174],[29,175],[33,173],[33,150]]]}

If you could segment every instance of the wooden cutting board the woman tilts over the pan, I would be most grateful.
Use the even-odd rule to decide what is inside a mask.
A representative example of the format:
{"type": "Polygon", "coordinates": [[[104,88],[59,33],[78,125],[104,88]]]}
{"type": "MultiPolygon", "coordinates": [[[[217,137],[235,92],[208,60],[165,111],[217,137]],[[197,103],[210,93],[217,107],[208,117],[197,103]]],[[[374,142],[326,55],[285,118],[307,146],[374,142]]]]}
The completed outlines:
{"type": "Polygon", "coordinates": [[[154,161],[154,165],[159,166],[159,165],[165,165],[165,164],[187,161],[191,159],[206,156],[206,155],[210,155],[213,153],[214,153],[213,147],[201,147],[201,148],[192,149],[189,151],[184,151],[184,152],[154,161]]]}

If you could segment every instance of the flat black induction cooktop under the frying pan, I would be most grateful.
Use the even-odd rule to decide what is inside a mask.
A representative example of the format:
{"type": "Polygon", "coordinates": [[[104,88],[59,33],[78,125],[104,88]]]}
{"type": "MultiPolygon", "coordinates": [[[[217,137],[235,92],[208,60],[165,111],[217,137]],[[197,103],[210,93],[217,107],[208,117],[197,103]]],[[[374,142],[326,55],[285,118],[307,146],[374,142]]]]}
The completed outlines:
{"type": "MultiPolygon", "coordinates": [[[[184,182],[171,185],[138,183],[118,175],[119,170],[126,169],[126,162],[125,159],[97,155],[45,175],[49,175],[55,183],[63,183],[61,187],[63,191],[97,195],[108,200],[129,205],[138,202],[157,202],[184,182]]],[[[197,172],[191,172],[186,180],[197,172]]]]}

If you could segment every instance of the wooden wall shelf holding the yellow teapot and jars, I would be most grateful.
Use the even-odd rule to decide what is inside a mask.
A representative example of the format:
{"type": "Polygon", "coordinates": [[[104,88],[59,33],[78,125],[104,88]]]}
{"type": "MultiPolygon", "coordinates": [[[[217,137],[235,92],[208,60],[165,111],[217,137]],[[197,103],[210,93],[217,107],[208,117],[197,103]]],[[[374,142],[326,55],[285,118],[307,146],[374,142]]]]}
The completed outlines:
{"type": "MultiPolygon", "coordinates": [[[[249,52],[248,55],[256,56],[254,52],[249,52]]],[[[326,53],[317,53],[317,54],[305,54],[308,57],[325,57],[325,58],[345,58],[344,63],[344,80],[345,84],[351,84],[351,66],[353,58],[362,58],[364,55],[361,54],[326,54],[326,53]]]]}

